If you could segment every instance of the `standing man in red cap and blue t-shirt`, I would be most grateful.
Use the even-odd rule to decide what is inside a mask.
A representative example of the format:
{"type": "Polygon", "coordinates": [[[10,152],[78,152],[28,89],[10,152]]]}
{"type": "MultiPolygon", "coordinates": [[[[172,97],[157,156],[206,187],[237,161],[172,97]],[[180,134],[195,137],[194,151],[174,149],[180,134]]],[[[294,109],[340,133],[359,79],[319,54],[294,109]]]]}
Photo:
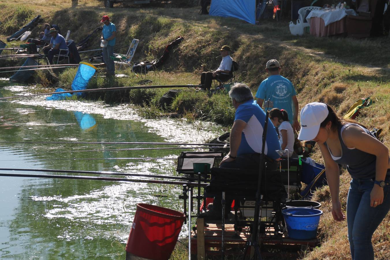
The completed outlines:
{"type": "Polygon", "coordinates": [[[103,47],[103,59],[106,64],[107,75],[115,75],[115,63],[111,56],[114,55],[115,38],[117,37],[117,29],[115,25],[110,22],[110,17],[103,16],[101,23],[104,23],[101,39],[107,41],[107,46],[103,47]]]}

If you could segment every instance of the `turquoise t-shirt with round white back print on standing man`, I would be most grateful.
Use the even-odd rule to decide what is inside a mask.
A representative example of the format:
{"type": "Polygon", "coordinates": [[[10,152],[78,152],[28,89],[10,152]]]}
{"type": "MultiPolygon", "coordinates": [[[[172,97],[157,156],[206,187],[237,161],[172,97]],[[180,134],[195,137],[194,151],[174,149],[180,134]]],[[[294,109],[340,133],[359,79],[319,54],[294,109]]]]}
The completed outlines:
{"type": "Polygon", "coordinates": [[[272,108],[284,109],[289,115],[289,122],[293,123],[293,99],[296,92],[290,80],[280,75],[271,75],[263,80],[257,89],[256,98],[268,99],[273,102],[272,108]]]}

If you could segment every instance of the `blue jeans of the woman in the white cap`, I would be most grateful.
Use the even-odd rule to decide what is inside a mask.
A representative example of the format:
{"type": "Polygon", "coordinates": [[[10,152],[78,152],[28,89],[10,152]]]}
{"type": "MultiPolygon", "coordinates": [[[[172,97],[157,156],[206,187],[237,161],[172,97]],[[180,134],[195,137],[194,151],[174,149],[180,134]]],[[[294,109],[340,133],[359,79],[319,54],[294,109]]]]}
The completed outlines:
{"type": "MultiPolygon", "coordinates": [[[[385,182],[390,182],[386,176],[385,182]]],[[[372,234],[390,210],[390,185],[383,188],[383,203],[371,207],[371,179],[352,179],[347,198],[348,240],[352,260],[373,260],[372,234]]]]}

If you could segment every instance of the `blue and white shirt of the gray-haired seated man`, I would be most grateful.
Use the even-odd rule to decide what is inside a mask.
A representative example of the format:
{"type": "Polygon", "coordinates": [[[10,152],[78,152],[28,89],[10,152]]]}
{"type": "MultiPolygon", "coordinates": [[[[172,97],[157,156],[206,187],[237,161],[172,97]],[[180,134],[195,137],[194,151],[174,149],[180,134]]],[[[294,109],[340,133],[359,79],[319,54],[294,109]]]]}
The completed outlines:
{"type": "MultiPolygon", "coordinates": [[[[256,101],[249,100],[238,106],[234,121],[241,120],[246,126],[241,134],[241,143],[237,155],[245,153],[261,153],[263,129],[266,113],[256,101]]],[[[268,122],[264,154],[273,159],[280,158],[276,150],[280,150],[278,134],[272,122],[268,122]]]]}

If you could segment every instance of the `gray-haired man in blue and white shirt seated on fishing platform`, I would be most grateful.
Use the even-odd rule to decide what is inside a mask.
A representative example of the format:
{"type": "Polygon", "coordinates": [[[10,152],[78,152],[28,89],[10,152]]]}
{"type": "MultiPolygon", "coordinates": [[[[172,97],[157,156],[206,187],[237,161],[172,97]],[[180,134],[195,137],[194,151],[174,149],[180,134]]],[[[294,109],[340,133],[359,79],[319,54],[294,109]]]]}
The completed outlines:
{"type": "MultiPolygon", "coordinates": [[[[234,169],[258,170],[260,167],[260,153],[262,149],[262,135],[265,126],[266,113],[254,101],[250,88],[243,83],[236,83],[229,91],[236,116],[230,132],[230,152],[223,158],[220,167],[234,169]]],[[[280,142],[273,124],[267,126],[266,155],[267,169],[276,169],[280,155],[280,142]]],[[[239,175],[239,174],[238,174],[239,175]]],[[[240,176],[237,176],[240,180],[240,176]]],[[[211,184],[213,183],[211,179],[211,184]]],[[[218,182],[219,180],[215,180],[218,182]]],[[[250,182],[251,180],[248,180],[250,182]]],[[[206,187],[207,190],[207,187],[206,187]]],[[[220,218],[222,214],[221,195],[214,199],[213,209],[202,214],[208,219],[220,218]]],[[[231,201],[227,200],[227,205],[231,201]]],[[[229,208],[229,207],[227,207],[229,208]]]]}

